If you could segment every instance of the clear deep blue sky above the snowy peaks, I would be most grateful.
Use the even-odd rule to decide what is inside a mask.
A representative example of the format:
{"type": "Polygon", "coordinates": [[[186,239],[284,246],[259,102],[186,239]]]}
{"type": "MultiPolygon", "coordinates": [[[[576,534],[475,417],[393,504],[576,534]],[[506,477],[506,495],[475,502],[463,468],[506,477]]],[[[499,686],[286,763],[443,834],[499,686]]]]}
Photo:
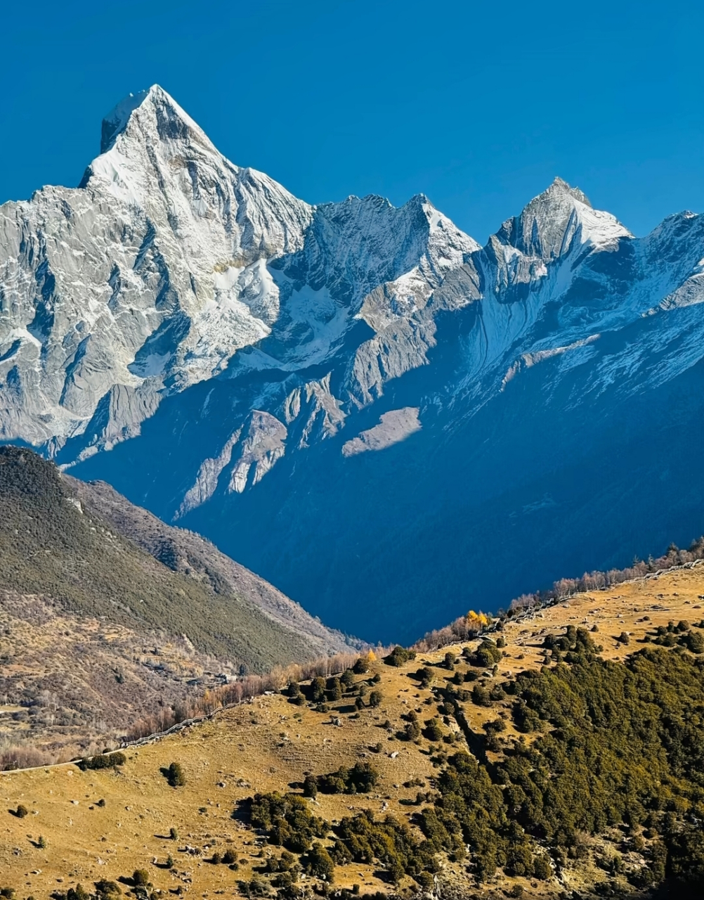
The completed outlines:
{"type": "Polygon", "coordinates": [[[77,184],[158,83],[309,202],[423,192],[482,241],[555,175],[637,234],[704,211],[694,0],[35,0],[0,29],[0,201],[77,184]]]}

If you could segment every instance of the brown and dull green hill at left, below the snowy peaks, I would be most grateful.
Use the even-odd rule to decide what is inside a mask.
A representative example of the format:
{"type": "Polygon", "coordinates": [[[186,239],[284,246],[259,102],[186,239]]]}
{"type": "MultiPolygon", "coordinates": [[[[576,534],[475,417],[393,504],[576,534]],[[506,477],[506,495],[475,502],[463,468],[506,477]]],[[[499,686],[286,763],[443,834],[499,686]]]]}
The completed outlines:
{"type": "Polygon", "coordinates": [[[246,672],[343,651],[207,541],[0,447],[0,749],[125,734],[246,672]]]}

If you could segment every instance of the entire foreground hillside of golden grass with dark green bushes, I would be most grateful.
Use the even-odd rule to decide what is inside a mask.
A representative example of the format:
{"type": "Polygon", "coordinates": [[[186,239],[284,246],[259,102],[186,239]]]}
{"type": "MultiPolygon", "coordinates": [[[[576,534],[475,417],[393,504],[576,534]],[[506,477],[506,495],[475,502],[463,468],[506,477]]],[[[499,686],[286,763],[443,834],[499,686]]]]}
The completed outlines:
{"type": "Polygon", "coordinates": [[[5,773],[9,887],[697,896],[703,597],[704,566],[673,569],[290,676],[124,759],[5,773]]]}

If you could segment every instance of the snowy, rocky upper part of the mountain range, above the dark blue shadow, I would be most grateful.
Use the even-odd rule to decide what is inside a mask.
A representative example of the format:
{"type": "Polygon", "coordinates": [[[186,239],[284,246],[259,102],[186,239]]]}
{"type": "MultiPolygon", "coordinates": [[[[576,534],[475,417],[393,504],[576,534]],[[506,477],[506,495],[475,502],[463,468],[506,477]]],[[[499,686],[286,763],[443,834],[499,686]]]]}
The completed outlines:
{"type": "Polygon", "coordinates": [[[479,247],[422,194],[300,201],[222,156],[155,85],[106,117],[78,188],[0,206],[0,439],[72,464],[138,440],[166,396],[232,380],[185,514],[255,488],[284,454],[340,439],[345,458],[410,434],[413,405],[367,431],[355,416],[421,367],[423,398],[388,405],[471,417],[555,357],[559,373],[598,360],[602,392],[662,348],[601,355],[595,336],[656,316],[667,349],[648,378],[670,377],[702,356],[702,284],[692,213],[637,239],[556,179],[479,247]]]}

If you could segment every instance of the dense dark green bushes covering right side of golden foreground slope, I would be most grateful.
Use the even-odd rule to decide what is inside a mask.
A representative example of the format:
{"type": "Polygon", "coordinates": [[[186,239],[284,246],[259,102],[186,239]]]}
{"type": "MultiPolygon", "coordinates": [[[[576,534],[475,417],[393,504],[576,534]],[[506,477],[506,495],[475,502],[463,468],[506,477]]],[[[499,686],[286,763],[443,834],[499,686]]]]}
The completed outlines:
{"type": "MultiPolygon", "coordinates": [[[[486,728],[478,756],[439,754],[435,789],[418,797],[417,830],[369,811],[333,827],[293,794],[257,795],[253,823],[274,845],[301,854],[303,870],[316,837],[327,836],[334,864],[377,862],[389,881],[408,875],[423,889],[432,887],[443,857],[477,888],[497,869],[551,878],[587,853],[590,837],[609,833],[612,845],[615,833],[631,861],[603,853],[594,895],[621,896],[619,886],[643,896],[663,885],[696,892],[704,887],[704,657],[698,628],[671,624],[665,632],[673,646],[655,644],[664,637],[655,633],[626,662],[603,660],[583,629],[548,635],[547,664],[481,701],[491,706],[492,694],[500,696],[505,711],[508,700],[519,738],[496,743],[506,727],[499,718],[486,728]],[[487,749],[500,749],[493,761],[487,749]]],[[[487,642],[482,657],[491,655],[487,642]]],[[[485,660],[474,654],[469,662],[485,660]]],[[[439,711],[459,712],[459,693],[451,682],[437,689],[439,711]]],[[[334,777],[315,780],[334,788],[334,777]]],[[[339,780],[337,789],[349,789],[339,780]]],[[[287,890],[295,896],[295,886],[287,890]]]]}

